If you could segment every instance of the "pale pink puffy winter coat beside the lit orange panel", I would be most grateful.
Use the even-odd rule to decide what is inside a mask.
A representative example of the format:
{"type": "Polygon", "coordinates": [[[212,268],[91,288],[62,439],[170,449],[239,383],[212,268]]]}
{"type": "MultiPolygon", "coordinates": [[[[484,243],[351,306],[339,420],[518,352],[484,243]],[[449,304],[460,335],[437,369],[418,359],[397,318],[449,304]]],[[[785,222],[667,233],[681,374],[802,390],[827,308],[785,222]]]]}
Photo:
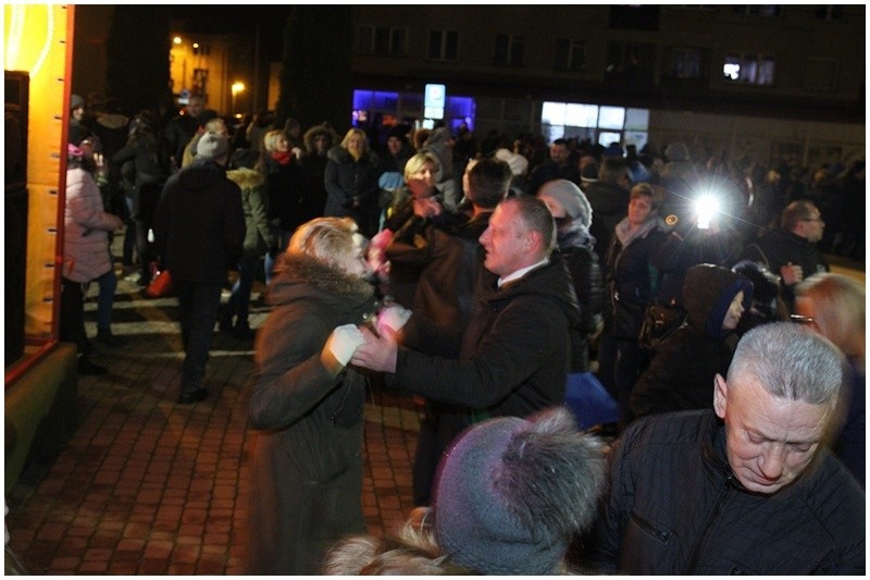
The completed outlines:
{"type": "Polygon", "coordinates": [[[84,169],[66,171],[63,211],[63,277],[90,282],[112,269],[109,236],[124,225],[121,218],[103,211],[100,188],[84,169]]]}

